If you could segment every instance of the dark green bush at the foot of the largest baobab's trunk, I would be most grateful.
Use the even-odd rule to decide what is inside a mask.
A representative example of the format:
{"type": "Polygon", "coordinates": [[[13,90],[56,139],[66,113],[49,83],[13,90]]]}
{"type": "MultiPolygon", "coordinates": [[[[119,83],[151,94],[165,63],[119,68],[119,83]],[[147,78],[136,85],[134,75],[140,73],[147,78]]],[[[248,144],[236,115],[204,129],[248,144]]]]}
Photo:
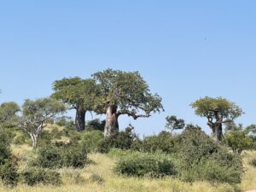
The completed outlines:
{"type": "Polygon", "coordinates": [[[110,148],[130,149],[136,140],[137,137],[131,132],[121,131],[111,137],[105,137],[99,144],[98,151],[108,153],[110,148]]]}

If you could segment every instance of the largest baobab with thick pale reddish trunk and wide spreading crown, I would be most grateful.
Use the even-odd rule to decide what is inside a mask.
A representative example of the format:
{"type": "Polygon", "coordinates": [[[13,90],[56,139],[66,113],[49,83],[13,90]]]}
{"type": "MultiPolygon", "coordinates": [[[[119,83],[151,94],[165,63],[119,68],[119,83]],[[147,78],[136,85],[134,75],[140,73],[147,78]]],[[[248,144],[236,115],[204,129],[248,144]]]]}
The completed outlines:
{"type": "Polygon", "coordinates": [[[105,137],[119,131],[118,119],[122,114],[133,119],[148,118],[150,113],[163,109],[160,96],[150,93],[148,84],[138,72],[107,69],[94,73],[92,77],[101,88],[100,104],[96,111],[106,113],[105,137]]]}

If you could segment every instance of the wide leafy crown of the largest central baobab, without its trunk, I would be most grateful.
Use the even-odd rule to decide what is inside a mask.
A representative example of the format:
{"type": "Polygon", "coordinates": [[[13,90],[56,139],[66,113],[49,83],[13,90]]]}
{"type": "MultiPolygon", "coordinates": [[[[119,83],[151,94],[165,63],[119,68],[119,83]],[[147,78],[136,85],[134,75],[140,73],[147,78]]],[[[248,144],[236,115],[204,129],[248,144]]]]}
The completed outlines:
{"type": "Polygon", "coordinates": [[[92,77],[100,84],[102,103],[108,106],[117,106],[133,113],[143,110],[147,114],[163,109],[160,96],[150,93],[148,84],[138,72],[107,69],[94,73],[92,77]]]}

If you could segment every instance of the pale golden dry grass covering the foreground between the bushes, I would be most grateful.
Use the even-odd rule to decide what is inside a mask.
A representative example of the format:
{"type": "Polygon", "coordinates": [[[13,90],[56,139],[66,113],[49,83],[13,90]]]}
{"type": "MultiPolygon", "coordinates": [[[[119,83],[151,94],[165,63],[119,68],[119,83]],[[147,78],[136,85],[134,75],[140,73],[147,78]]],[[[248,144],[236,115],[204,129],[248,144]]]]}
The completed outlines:
{"type": "MultiPolygon", "coordinates": [[[[14,147],[14,146],[13,146],[14,147]]],[[[15,154],[30,154],[30,148],[21,146],[14,148],[15,154]],[[21,153],[22,151],[22,153],[21,153]]],[[[119,177],[113,173],[114,160],[104,154],[90,154],[91,164],[81,170],[61,169],[63,184],[59,187],[42,186],[28,187],[19,184],[14,189],[0,186],[0,192],[235,192],[230,184],[212,185],[207,182],[183,183],[178,179],[119,177]],[[102,181],[102,178],[104,181],[102,181]]],[[[242,191],[256,189],[256,169],[248,165],[248,161],[256,157],[256,152],[244,154],[247,171],[239,186],[242,191]]]]}

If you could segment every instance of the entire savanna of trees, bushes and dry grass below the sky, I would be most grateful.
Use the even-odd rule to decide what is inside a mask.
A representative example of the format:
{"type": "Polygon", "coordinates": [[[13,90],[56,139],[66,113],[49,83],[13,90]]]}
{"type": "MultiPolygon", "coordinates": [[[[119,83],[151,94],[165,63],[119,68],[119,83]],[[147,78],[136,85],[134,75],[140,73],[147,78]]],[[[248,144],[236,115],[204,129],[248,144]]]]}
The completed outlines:
{"type": "MultiPolygon", "coordinates": [[[[157,135],[119,130],[119,116],[149,118],[161,97],[137,72],[107,69],[59,79],[53,94],[0,105],[0,191],[247,191],[256,189],[256,125],[223,97],[191,101],[208,136],[175,115],[157,135]],[[75,119],[65,116],[75,110],[75,119]],[[106,119],[86,120],[87,113],[106,119]]],[[[191,114],[192,115],[192,114],[191,114]]],[[[150,127],[154,129],[154,127],[150,127]]]]}

